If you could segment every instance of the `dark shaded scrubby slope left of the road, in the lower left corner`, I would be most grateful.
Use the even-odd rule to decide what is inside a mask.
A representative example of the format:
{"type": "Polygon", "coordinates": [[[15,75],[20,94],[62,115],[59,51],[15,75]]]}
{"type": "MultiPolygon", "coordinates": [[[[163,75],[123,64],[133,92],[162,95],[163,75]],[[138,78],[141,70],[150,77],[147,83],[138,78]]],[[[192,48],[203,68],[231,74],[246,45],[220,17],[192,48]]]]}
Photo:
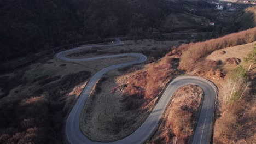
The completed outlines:
{"type": "Polygon", "coordinates": [[[64,119],[89,77],[130,57],[67,63],[55,58],[0,76],[0,143],[65,143],[64,119]]]}

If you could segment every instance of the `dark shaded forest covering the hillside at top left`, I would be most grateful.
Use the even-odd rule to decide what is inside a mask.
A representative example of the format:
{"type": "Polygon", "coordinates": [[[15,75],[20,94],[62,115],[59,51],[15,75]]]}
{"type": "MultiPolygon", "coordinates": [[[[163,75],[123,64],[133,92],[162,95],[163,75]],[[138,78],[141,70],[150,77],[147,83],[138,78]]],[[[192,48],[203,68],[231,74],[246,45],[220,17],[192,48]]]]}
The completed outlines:
{"type": "Polygon", "coordinates": [[[89,39],[164,31],[167,15],[183,13],[188,3],[191,5],[166,0],[1,0],[0,60],[89,39]]]}

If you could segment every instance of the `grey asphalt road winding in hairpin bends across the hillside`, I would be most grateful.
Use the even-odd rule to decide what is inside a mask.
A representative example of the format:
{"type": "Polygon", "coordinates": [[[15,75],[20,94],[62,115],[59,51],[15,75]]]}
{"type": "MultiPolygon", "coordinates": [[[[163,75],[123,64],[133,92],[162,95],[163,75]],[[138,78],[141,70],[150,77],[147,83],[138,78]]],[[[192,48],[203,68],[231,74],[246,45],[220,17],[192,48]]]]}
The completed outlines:
{"type": "MultiPolygon", "coordinates": [[[[116,43],[110,45],[92,45],[92,46],[83,46],[77,47],[71,50],[62,51],[57,54],[57,58],[60,58],[64,61],[69,62],[79,62],[79,61],[92,61],[95,59],[102,59],[102,58],[110,58],[110,57],[123,57],[123,56],[133,56],[138,57],[136,61],[115,64],[110,67],[104,68],[98,71],[94,76],[91,77],[88,84],[83,89],[82,94],[80,95],[79,99],[75,103],[73,109],[69,113],[69,116],[66,121],[66,137],[69,143],[93,143],[93,144],[102,144],[106,142],[97,142],[91,141],[83,135],[82,131],[79,127],[80,116],[82,115],[83,107],[86,102],[86,99],[89,97],[92,88],[94,87],[95,83],[102,77],[103,74],[108,73],[108,71],[127,67],[133,64],[139,64],[146,61],[147,57],[142,55],[141,53],[124,53],[119,55],[111,55],[111,56],[101,56],[101,57],[94,57],[94,58],[79,58],[79,59],[72,59],[67,58],[66,55],[69,52],[75,50],[82,50],[82,49],[89,49],[91,47],[101,47],[101,46],[115,46],[119,45],[121,41],[117,39],[116,43]]],[[[150,113],[149,117],[146,121],[139,127],[135,132],[131,135],[125,137],[124,139],[114,141],[114,142],[107,142],[107,143],[124,143],[124,144],[132,144],[132,143],[143,143],[150,138],[155,132],[156,129],[159,127],[159,122],[162,115],[165,112],[168,104],[172,99],[172,95],[174,92],[188,84],[193,84],[201,87],[204,93],[203,105],[201,109],[201,113],[199,116],[199,120],[197,121],[197,127],[195,130],[195,134],[193,137],[193,144],[201,144],[201,143],[209,143],[211,137],[211,125],[213,122],[214,117],[214,104],[217,95],[217,88],[216,86],[205,79],[196,76],[181,76],[174,79],[166,88],[165,92],[162,94],[158,104],[156,104],[152,113],[150,113]]]]}

